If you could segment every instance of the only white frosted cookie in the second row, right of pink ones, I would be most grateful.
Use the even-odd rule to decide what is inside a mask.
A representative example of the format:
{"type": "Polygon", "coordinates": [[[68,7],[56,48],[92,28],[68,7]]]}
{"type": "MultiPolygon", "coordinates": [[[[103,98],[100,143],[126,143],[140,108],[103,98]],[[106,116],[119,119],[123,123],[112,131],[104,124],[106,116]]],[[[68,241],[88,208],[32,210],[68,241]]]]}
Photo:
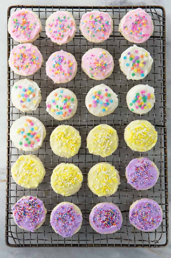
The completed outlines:
{"type": "Polygon", "coordinates": [[[133,45],[125,50],[119,59],[121,71],[128,80],[141,80],[149,73],[153,64],[153,58],[150,53],[133,45]]]}

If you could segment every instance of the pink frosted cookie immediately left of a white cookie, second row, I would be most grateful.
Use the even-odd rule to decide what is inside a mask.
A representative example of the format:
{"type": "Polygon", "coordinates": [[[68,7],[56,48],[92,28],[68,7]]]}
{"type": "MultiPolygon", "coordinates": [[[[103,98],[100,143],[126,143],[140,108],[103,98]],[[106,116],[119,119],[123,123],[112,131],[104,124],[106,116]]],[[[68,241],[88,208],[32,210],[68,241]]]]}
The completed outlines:
{"type": "Polygon", "coordinates": [[[112,74],[114,61],[107,50],[96,47],[83,55],[81,67],[91,79],[104,80],[112,74]]]}

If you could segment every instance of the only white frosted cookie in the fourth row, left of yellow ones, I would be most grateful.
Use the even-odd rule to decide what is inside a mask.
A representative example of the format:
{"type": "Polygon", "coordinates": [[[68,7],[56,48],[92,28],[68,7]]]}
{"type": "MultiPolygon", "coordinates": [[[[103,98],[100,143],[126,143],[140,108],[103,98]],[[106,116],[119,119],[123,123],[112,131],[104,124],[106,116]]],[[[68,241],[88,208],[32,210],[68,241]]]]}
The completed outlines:
{"type": "Polygon", "coordinates": [[[38,150],[46,136],[42,122],[30,116],[18,118],[10,128],[10,138],[19,150],[38,150]]]}

